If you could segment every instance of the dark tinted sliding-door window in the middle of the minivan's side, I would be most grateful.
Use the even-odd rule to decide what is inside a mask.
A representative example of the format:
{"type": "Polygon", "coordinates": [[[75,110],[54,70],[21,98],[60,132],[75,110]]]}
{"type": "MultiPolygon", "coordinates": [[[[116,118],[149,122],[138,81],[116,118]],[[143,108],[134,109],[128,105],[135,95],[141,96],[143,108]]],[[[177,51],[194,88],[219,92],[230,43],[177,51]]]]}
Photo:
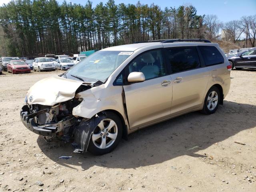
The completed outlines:
{"type": "Polygon", "coordinates": [[[200,67],[198,52],[195,47],[166,48],[167,63],[172,73],[192,70],[200,67]]]}

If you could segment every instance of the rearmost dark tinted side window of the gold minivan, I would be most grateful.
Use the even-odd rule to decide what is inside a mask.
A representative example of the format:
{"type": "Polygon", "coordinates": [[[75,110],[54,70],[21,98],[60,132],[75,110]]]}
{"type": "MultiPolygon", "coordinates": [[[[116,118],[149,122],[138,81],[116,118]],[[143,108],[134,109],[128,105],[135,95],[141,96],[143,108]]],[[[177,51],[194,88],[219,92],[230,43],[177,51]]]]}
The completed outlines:
{"type": "Polygon", "coordinates": [[[224,62],[219,50],[214,46],[198,46],[206,66],[217,65],[224,62]]]}

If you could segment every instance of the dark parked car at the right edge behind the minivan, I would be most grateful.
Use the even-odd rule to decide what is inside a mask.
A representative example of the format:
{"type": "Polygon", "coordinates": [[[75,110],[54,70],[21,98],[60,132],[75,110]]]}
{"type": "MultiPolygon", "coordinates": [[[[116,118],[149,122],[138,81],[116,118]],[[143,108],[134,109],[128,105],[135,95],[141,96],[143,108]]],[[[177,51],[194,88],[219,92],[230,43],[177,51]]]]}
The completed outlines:
{"type": "Polygon", "coordinates": [[[237,56],[228,57],[232,69],[235,68],[256,68],[256,47],[250,48],[237,56]]]}

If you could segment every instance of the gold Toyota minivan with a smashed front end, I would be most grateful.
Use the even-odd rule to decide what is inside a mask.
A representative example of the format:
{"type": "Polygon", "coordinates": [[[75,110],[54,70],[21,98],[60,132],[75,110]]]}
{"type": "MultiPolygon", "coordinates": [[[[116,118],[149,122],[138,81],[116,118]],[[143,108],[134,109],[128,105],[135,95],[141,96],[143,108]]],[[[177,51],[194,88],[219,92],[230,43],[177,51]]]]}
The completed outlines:
{"type": "Polygon", "coordinates": [[[106,154],[140,128],[192,111],[214,113],[228,94],[230,70],[208,40],[110,47],[34,84],[21,120],[48,141],[72,142],[74,152],[106,154]]]}

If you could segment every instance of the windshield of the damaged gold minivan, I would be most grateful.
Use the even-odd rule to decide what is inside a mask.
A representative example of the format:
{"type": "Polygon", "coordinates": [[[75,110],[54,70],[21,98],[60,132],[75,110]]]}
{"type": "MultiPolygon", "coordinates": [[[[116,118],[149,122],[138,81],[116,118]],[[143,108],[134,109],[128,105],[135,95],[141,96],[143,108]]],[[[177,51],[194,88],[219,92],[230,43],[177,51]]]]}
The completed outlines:
{"type": "Polygon", "coordinates": [[[132,53],[122,51],[95,52],[68,70],[66,76],[76,80],[78,78],[74,78],[74,76],[78,76],[85,82],[105,82],[112,72],[132,53]]]}

